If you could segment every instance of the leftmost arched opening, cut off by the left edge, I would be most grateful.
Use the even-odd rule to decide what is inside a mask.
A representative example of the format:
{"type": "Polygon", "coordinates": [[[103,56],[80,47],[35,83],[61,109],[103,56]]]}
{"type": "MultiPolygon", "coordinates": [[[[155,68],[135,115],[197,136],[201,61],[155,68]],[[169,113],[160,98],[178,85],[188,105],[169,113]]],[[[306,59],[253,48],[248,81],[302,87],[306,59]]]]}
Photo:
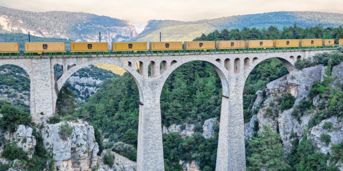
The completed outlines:
{"type": "Polygon", "coordinates": [[[16,108],[30,112],[31,79],[18,65],[0,65],[0,107],[12,103],[16,108]]]}

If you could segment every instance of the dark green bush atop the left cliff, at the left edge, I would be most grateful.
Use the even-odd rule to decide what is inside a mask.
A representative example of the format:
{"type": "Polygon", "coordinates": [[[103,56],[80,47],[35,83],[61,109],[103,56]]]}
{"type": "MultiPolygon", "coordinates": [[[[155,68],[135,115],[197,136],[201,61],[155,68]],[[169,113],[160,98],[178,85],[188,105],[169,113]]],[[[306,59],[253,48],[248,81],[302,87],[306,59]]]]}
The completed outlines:
{"type": "Polygon", "coordinates": [[[15,132],[18,125],[30,125],[32,117],[25,109],[18,109],[14,105],[1,106],[0,113],[3,115],[0,118],[0,129],[3,131],[9,130],[15,132]]]}

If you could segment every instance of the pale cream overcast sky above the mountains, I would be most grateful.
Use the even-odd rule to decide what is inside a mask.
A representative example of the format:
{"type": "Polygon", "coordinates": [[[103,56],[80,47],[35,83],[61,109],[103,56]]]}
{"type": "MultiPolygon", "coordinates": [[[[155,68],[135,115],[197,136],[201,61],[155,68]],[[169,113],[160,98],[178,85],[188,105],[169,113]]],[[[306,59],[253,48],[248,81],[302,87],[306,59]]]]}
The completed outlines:
{"type": "Polygon", "coordinates": [[[89,12],[144,23],[151,19],[196,21],[271,11],[343,13],[343,0],[0,0],[29,11],[89,12]]]}

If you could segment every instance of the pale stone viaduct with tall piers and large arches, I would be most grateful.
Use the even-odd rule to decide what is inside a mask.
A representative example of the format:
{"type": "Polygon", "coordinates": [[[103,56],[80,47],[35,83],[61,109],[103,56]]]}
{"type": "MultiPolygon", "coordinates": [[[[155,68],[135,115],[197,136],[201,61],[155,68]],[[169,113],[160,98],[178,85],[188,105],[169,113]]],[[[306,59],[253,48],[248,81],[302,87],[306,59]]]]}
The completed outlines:
{"type": "Polygon", "coordinates": [[[58,92],[67,79],[79,69],[96,63],[123,67],[132,75],[139,89],[137,171],[164,171],[160,111],[163,84],[180,65],[196,60],[206,61],[218,73],[223,89],[216,171],[245,171],[243,88],[249,73],[258,63],[273,57],[280,59],[291,72],[295,69],[294,63],[297,59],[308,58],[325,51],[328,50],[126,57],[3,58],[0,59],[0,66],[17,65],[28,73],[31,80],[31,114],[43,112],[45,115],[54,114],[58,92]],[[63,73],[57,79],[54,77],[55,64],[63,66],[63,73]],[[135,69],[136,64],[139,72],[135,69]]]}

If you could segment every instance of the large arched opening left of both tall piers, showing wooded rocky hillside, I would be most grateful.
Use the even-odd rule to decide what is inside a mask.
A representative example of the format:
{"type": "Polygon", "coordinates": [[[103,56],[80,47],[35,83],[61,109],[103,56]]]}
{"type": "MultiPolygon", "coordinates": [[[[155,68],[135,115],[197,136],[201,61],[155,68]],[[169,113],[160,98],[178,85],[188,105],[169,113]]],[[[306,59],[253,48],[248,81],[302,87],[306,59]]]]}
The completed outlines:
{"type": "MultiPolygon", "coordinates": [[[[118,66],[107,65],[112,65],[112,68],[118,66]]],[[[127,66],[124,66],[124,68],[128,69],[127,66]]],[[[77,104],[78,108],[75,112],[72,112],[73,114],[63,114],[63,120],[70,121],[78,118],[94,125],[95,134],[100,136],[100,139],[96,137],[100,150],[98,155],[103,150],[113,149],[119,155],[136,161],[138,123],[142,106],[140,103],[143,102],[141,100],[143,97],[140,96],[141,89],[137,85],[137,80],[131,75],[139,76],[139,74],[133,68],[132,70],[129,69],[128,72],[119,76],[94,65],[78,64],[64,74],[65,76],[71,75],[71,77],[68,78],[68,81],[59,92],[56,107],[59,109],[57,114],[61,116],[62,108],[65,107],[63,104],[66,104],[66,102],[70,104],[73,101],[70,95],[68,97],[68,93],[70,93],[70,90],[75,92],[74,88],[78,89],[82,96],[89,96],[86,101],[77,104]],[[72,85],[68,86],[69,83],[72,85]],[[93,93],[87,93],[87,88],[89,92],[93,93]],[[63,98],[65,99],[63,100],[63,98]],[[98,129],[101,131],[98,131],[98,129]],[[102,136],[104,136],[104,142],[101,140],[102,136]]],[[[61,81],[62,79],[65,80],[65,76],[61,78],[61,81]]],[[[78,95],[76,95],[75,99],[77,100],[77,98],[78,95]]],[[[65,108],[68,109],[68,107],[65,108]]],[[[91,151],[85,153],[92,155],[91,151]]]]}

